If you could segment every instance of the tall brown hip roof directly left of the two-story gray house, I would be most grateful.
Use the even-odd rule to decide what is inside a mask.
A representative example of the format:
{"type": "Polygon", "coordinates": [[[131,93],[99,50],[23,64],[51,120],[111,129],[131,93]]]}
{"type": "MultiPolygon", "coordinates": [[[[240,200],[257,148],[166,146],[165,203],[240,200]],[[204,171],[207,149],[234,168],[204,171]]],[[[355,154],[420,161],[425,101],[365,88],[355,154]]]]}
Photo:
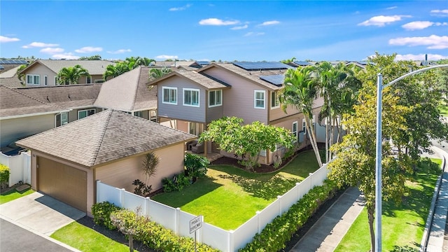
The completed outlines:
{"type": "Polygon", "coordinates": [[[157,88],[148,89],[149,67],[136,69],[102,83],[95,106],[120,111],[141,111],[157,108],[157,88]]]}

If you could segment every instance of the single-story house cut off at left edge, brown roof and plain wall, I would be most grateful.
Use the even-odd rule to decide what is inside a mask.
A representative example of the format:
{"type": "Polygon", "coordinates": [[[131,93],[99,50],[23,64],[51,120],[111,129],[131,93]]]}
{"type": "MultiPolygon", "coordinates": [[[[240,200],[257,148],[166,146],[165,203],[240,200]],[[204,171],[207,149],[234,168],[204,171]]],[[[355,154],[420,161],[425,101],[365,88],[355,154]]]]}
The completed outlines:
{"type": "Polygon", "coordinates": [[[48,104],[0,85],[0,146],[55,127],[55,117],[70,109],[48,104]]]}

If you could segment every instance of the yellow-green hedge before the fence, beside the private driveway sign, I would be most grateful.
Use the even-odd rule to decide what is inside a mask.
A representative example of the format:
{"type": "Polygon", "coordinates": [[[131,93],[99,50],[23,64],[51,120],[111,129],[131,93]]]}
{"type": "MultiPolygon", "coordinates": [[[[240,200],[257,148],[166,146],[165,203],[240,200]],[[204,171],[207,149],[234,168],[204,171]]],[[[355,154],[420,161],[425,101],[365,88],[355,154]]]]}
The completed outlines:
{"type": "MultiPolygon", "coordinates": [[[[94,222],[98,225],[104,225],[111,230],[116,230],[111,221],[111,214],[120,210],[114,204],[109,202],[101,202],[92,206],[92,215],[94,222]]],[[[169,230],[162,225],[155,223],[154,221],[141,221],[143,216],[137,216],[134,212],[128,213],[134,218],[131,218],[130,225],[137,230],[134,235],[134,239],[141,241],[149,248],[153,248],[156,251],[195,251],[195,241],[190,237],[179,237],[174,234],[172,230],[169,230]]],[[[129,221],[129,220],[128,220],[129,221]]],[[[211,248],[206,244],[197,243],[197,251],[200,252],[218,252],[215,248],[211,248]]]]}

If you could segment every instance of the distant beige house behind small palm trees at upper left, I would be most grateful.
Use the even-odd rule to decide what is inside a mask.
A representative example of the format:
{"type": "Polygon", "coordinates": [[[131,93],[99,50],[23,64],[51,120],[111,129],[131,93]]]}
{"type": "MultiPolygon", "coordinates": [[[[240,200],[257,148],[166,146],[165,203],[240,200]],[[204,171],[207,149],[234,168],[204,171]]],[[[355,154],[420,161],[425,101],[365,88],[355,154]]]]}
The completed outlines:
{"type": "Polygon", "coordinates": [[[64,67],[73,67],[79,64],[90,73],[90,77],[81,76],[78,84],[103,83],[103,74],[107,66],[114,64],[107,60],[64,60],[64,59],[38,59],[32,62],[20,73],[25,74],[27,87],[45,87],[59,85],[57,73],[64,67]]]}

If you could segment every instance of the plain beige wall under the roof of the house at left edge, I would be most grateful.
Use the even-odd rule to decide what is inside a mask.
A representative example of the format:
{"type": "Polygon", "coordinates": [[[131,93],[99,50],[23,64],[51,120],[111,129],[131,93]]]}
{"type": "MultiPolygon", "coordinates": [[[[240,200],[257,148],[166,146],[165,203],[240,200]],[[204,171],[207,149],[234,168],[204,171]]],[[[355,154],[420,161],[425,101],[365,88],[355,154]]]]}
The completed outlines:
{"type": "Polygon", "coordinates": [[[19,137],[26,137],[55,127],[55,114],[0,120],[0,144],[6,146],[19,137]]]}

